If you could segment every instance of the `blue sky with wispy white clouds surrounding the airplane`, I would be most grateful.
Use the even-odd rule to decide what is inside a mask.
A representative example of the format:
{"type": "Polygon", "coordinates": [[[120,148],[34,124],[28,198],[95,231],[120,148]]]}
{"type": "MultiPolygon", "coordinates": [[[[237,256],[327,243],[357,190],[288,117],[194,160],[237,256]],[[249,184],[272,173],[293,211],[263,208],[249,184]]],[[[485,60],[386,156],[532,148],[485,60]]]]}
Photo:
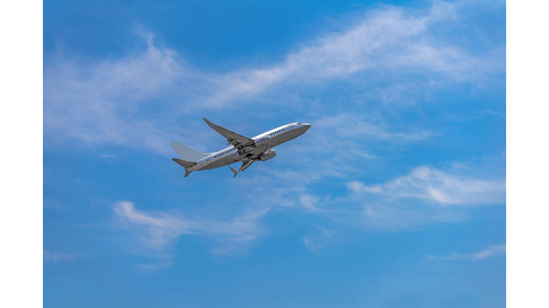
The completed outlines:
{"type": "Polygon", "coordinates": [[[505,90],[505,1],[45,1],[44,307],[505,307],[505,90]]]}

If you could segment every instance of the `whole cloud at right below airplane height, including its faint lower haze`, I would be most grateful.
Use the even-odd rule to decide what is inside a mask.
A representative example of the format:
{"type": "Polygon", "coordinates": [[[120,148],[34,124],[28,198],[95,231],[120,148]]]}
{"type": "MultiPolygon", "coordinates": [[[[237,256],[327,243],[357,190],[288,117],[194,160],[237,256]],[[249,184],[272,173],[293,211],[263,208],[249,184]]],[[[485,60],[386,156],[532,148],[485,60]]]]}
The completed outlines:
{"type": "Polygon", "coordinates": [[[466,206],[505,204],[505,157],[453,163],[445,170],[419,166],[386,183],[351,181],[347,190],[347,202],[363,205],[355,224],[369,230],[469,220],[466,206]]]}

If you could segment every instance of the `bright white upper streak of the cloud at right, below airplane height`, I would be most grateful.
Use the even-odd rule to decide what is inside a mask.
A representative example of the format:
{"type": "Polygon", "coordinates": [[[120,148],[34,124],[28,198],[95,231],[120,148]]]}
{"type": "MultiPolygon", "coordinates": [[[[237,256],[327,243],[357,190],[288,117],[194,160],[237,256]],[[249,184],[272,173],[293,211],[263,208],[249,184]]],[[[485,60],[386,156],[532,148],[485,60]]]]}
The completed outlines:
{"type": "Polygon", "coordinates": [[[481,180],[420,166],[410,175],[385,184],[347,184],[352,193],[382,194],[388,198],[417,198],[440,204],[478,205],[505,203],[505,179],[481,180]]]}

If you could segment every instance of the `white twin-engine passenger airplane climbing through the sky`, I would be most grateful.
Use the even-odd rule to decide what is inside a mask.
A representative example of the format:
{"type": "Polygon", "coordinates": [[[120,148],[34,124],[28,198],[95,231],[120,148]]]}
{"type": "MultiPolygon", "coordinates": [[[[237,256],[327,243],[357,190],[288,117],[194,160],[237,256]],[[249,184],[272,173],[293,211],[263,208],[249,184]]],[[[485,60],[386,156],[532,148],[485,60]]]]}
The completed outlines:
{"type": "Polygon", "coordinates": [[[265,161],[274,158],[277,153],[274,153],[272,148],[303,135],[311,127],[307,123],[291,123],[269,130],[254,138],[247,138],[215,125],[206,118],[202,118],[202,120],[206,121],[209,129],[213,128],[217,133],[227,138],[229,142],[227,145],[230,146],[215,153],[200,153],[177,141],[170,143],[179,155],[179,158],[173,158],[173,160],[185,168],[185,178],[193,171],[211,170],[242,162],[238,170],[229,166],[234,173],[233,178],[236,178],[239,172],[246,170],[257,160],[265,161]]]}

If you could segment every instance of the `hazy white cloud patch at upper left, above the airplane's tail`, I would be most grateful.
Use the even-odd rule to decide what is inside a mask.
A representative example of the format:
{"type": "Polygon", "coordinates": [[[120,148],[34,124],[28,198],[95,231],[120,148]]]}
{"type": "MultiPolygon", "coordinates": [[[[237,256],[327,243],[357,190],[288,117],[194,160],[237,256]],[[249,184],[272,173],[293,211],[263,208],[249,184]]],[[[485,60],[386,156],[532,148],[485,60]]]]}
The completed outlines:
{"type": "Polygon", "coordinates": [[[188,73],[177,53],[157,48],[83,66],[61,58],[44,69],[44,135],[86,143],[137,145],[166,153],[173,135],[138,116],[144,101],[162,99],[188,73]]]}

